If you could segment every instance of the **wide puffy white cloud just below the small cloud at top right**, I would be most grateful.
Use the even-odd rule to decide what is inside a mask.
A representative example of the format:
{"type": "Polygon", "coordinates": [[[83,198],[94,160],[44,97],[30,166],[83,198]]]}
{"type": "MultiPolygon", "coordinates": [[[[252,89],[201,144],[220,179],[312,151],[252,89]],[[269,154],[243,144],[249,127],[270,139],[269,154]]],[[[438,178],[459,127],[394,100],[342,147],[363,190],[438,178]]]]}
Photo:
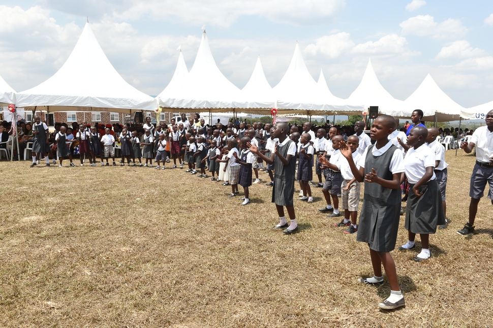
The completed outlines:
{"type": "Polygon", "coordinates": [[[458,19],[449,18],[438,23],[430,15],[411,17],[399,26],[402,28],[403,35],[429,36],[433,39],[458,38],[464,36],[468,30],[458,19]]]}

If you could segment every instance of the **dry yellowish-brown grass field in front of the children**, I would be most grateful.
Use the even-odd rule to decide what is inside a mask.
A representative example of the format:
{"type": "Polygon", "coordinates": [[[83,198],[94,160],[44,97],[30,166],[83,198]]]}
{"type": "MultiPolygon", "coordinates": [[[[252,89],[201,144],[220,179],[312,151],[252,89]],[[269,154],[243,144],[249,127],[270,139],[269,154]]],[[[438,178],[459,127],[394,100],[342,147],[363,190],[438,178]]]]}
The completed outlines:
{"type": "Polygon", "coordinates": [[[452,223],[430,237],[428,260],[412,260],[419,237],[416,251],[392,252],[406,307],[390,312],[377,307],[387,282],[356,282],[373,274],[367,246],[317,211],[318,188],[315,203],[295,200],[301,230],[284,236],[265,183],[243,207],[229,187],[179,169],[2,161],[0,326],[491,326],[493,207],[481,200],[472,238],[455,233],[475,157],[454,154],[452,223]]]}

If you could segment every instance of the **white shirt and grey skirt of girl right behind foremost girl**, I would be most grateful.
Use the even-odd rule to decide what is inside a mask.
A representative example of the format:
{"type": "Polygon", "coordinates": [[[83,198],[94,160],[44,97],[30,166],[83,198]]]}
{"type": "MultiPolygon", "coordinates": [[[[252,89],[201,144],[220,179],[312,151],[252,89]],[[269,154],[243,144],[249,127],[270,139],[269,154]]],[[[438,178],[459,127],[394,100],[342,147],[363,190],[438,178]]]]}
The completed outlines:
{"type": "Polygon", "coordinates": [[[423,194],[417,197],[412,188],[426,173],[426,168],[435,168],[435,153],[426,145],[421,145],[418,149],[409,148],[404,160],[404,169],[411,187],[408,195],[406,206],[406,224],[407,230],[414,234],[435,234],[437,225],[445,224],[445,215],[443,213],[443,204],[433,176],[419,187],[423,194]]]}

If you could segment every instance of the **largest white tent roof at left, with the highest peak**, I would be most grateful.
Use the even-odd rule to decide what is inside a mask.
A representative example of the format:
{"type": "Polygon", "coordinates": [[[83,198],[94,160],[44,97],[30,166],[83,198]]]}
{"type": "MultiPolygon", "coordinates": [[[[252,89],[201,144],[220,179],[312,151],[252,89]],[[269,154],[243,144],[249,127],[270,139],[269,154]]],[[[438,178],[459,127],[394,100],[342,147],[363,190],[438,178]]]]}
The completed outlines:
{"type": "Polygon", "coordinates": [[[16,105],[50,106],[50,111],[57,110],[52,106],[80,107],[82,111],[87,107],[156,109],[155,99],[128,84],[116,72],[89,23],[58,72],[40,85],[17,93],[16,105]]]}

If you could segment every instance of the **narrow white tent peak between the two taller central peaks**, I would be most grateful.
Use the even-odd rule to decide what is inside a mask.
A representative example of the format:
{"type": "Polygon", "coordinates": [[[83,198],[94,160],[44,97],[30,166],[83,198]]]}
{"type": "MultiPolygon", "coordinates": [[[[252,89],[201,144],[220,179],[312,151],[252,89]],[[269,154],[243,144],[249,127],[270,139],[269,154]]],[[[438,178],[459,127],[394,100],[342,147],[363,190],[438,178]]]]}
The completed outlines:
{"type": "Polygon", "coordinates": [[[250,80],[240,91],[240,100],[235,102],[235,107],[249,109],[249,113],[257,114],[264,114],[265,109],[270,110],[274,107],[272,87],[265,78],[260,56],[257,57],[250,80]]]}

